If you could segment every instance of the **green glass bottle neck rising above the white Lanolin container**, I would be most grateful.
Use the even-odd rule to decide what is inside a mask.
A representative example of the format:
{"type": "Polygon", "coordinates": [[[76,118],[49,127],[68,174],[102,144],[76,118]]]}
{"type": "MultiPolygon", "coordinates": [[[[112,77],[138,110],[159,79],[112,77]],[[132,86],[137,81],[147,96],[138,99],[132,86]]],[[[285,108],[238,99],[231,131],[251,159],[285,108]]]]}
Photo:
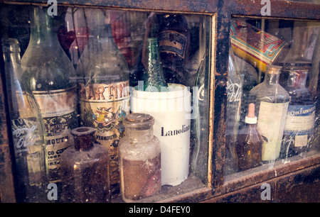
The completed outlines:
{"type": "Polygon", "coordinates": [[[166,91],[168,84],[161,67],[158,39],[147,38],[144,52],[144,91],[166,91]]]}

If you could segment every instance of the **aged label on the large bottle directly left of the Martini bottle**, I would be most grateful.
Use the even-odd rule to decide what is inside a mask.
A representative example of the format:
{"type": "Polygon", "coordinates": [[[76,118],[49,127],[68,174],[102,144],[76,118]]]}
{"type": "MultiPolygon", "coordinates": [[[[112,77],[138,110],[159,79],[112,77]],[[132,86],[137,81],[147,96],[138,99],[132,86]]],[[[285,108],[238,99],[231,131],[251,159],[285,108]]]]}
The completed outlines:
{"type": "Polygon", "coordinates": [[[78,126],[77,89],[33,91],[46,128],[50,182],[60,182],[58,171],[63,151],[73,145],[70,129],[78,126]]]}

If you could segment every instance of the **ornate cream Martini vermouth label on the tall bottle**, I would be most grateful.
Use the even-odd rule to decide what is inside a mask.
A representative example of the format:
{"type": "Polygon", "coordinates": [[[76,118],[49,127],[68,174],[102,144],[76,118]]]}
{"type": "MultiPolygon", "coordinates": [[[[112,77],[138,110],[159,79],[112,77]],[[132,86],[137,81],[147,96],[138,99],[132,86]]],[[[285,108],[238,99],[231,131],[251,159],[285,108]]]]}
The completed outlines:
{"type": "Polygon", "coordinates": [[[124,135],[122,120],[129,113],[129,81],[79,86],[81,124],[97,129],[95,139],[109,150],[111,183],[116,184],[118,143],[124,135]]]}

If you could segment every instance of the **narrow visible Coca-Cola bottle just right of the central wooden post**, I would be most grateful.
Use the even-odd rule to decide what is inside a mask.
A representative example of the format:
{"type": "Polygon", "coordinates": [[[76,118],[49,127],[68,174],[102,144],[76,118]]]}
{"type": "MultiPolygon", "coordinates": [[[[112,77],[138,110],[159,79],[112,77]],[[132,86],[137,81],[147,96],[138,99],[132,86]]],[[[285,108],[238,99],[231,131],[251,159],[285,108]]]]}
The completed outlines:
{"type": "Polygon", "coordinates": [[[235,150],[237,140],[242,96],[242,77],[235,62],[233,49],[229,45],[227,116],[225,137],[225,174],[237,171],[238,156],[235,150]]]}

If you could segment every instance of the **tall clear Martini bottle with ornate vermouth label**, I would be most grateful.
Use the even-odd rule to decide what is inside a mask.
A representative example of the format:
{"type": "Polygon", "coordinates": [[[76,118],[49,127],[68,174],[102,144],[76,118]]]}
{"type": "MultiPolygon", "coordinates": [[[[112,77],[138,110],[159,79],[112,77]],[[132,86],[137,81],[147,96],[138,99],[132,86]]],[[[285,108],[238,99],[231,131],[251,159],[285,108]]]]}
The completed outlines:
{"type": "Polygon", "coordinates": [[[110,15],[86,10],[97,23],[77,65],[80,124],[96,128],[95,138],[110,153],[112,191],[119,191],[118,143],[124,135],[123,118],[129,113],[129,69],[112,38],[110,15]]]}

